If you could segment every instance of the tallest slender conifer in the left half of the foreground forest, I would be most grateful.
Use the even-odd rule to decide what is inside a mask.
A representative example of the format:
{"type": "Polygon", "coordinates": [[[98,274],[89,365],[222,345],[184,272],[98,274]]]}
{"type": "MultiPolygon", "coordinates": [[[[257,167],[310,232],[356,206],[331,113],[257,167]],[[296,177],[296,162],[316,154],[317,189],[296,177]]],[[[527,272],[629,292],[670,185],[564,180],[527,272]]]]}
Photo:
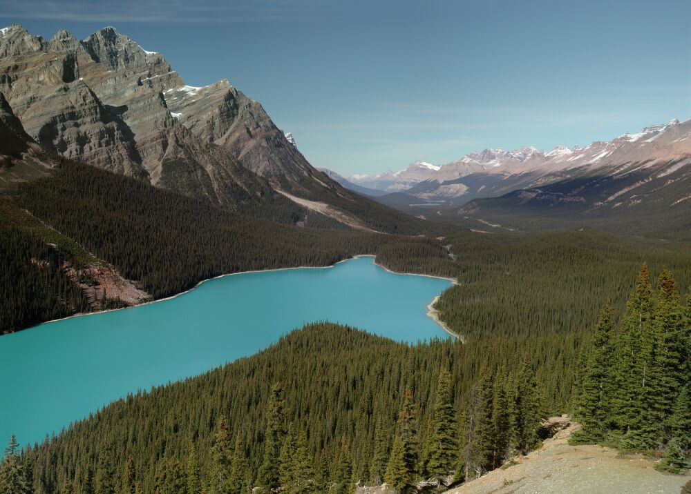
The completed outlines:
{"type": "Polygon", "coordinates": [[[285,435],[285,402],[281,384],[274,384],[267,406],[267,425],[264,434],[264,456],[257,473],[257,484],[266,489],[279,486],[278,455],[285,435]]]}

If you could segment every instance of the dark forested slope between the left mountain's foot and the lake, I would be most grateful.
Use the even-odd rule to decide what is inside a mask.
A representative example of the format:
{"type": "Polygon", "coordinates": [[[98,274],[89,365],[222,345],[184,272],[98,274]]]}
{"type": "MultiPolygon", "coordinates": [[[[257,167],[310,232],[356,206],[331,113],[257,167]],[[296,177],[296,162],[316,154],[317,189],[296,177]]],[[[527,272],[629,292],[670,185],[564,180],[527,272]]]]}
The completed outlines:
{"type": "MultiPolygon", "coordinates": [[[[309,226],[327,228],[277,224],[256,217],[265,215],[265,209],[254,213],[255,217],[230,213],[205,201],[67,160],[61,160],[61,167],[51,177],[19,184],[16,191],[0,199],[0,217],[8,228],[14,225],[35,244],[54,244],[43,249],[62,255],[70,266],[100,260],[113,264],[154,298],[180,293],[217,275],[328,266],[354,255],[376,254],[385,247],[394,249],[399,257],[409,251],[418,253],[417,270],[426,270],[429,263],[451,264],[436,239],[357,232],[318,213],[303,220],[309,226]],[[333,226],[337,228],[330,228],[333,226]]],[[[9,242],[10,235],[2,241],[9,242]]],[[[30,288],[23,275],[3,277],[8,304],[0,308],[2,332],[51,319],[50,314],[64,316],[88,308],[83,303],[67,303],[62,296],[69,285],[62,262],[35,255],[41,263],[31,263],[30,250],[8,247],[7,252],[11,255],[6,262],[17,270],[21,266],[26,276],[35,276],[39,268],[47,273],[49,267],[66,285],[43,282],[42,289],[50,295],[41,303],[54,307],[49,312],[33,307],[37,302],[26,296],[30,288]]]]}

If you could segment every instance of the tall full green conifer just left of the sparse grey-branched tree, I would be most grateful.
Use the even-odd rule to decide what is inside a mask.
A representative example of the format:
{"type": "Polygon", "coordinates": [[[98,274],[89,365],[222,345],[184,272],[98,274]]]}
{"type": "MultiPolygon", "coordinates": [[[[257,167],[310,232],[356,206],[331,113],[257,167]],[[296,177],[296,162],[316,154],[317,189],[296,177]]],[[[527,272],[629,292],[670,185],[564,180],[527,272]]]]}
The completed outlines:
{"type": "Polygon", "coordinates": [[[439,484],[442,484],[443,477],[453,470],[458,457],[458,442],[456,439],[458,426],[451,393],[451,374],[448,373],[446,368],[442,367],[437,382],[432,440],[430,441],[427,466],[430,475],[439,484]]]}

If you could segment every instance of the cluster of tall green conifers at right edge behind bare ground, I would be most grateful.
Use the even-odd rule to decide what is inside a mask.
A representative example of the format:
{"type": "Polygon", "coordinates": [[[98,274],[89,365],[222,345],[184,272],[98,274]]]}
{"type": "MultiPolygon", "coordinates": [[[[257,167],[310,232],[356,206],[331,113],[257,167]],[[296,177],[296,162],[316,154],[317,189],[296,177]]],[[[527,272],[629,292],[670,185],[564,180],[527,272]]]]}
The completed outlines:
{"type": "Polygon", "coordinates": [[[686,304],[667,268],[655,286],[641,266],[619,324],[606,305],[584,350],[573,442],[662,451],[661,470],[691,459],[691,294],[686,304]]]}

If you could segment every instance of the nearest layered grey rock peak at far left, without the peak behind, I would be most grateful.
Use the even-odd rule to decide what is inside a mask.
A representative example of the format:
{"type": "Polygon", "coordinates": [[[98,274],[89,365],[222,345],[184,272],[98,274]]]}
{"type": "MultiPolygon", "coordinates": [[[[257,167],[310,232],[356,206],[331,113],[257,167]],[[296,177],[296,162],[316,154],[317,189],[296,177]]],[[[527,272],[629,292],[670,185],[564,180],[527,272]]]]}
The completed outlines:
{"type": "Polygon", "coordinates": [[[53,39],[17,24],[0,34],[0,92],[28,135],[70,159],[233,207],[272,189],[173,116],[184,82],[162,55],[104,28],[53,39]]]}

